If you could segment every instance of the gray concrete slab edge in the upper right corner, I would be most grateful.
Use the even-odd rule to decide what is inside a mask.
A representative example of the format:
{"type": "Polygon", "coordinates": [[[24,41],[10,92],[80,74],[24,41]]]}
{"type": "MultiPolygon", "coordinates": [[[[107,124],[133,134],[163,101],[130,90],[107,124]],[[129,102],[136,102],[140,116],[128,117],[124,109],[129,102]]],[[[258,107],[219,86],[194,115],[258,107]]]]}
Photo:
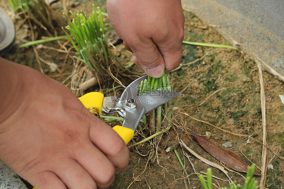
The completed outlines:
{"type": "Polygon", "coordinates": [[[283,0],[182,0],[182,5],[284,81],[283,0]]]}

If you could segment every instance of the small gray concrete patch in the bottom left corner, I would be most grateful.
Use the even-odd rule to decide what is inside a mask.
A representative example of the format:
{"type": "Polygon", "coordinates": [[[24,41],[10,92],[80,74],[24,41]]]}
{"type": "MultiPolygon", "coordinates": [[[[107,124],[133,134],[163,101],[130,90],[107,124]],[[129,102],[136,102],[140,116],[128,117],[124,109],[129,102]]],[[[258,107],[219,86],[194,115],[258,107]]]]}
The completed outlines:
{"type": "Polygon", "coordinates": [[[19,176],[0,160],[0,189],[27,189],[19,176]]]}

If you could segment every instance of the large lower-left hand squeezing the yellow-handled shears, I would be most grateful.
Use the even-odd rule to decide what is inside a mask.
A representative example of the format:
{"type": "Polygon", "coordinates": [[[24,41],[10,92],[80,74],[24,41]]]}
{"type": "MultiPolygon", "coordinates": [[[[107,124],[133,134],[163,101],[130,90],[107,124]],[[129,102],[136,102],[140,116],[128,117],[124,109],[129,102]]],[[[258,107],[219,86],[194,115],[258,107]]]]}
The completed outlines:
{"type": "Polygon", "coordinates": [[[37,189],[106,188],[127,166],[124,141],[68,88],[1,58],[0,72],[0,159],[18,175],[37,189]]]}

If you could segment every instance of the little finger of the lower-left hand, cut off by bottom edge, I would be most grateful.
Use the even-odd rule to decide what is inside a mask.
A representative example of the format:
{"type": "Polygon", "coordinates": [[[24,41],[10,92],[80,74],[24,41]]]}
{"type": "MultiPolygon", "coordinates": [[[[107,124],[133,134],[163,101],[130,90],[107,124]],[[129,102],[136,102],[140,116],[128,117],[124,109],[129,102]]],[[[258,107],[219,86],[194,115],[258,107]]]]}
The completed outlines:
{"type": "Polygon", "coordinates": [[[60,178],[50,171],[40,172],[30,177],[27,181],[37,189],[66,189],[60,178]]]}

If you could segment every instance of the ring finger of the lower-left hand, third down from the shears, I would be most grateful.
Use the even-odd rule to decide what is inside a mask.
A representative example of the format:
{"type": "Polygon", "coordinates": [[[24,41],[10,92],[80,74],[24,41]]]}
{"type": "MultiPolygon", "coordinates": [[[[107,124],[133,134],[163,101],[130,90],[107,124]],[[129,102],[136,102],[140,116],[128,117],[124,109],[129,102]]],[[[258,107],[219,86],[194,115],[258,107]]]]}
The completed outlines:
{"type": "Polygon", "coordinates": [[[69,189],[97,188],[93,178],[75,160],[66,159],[61,161],[55,168],[55,172],[69,189]]]}

